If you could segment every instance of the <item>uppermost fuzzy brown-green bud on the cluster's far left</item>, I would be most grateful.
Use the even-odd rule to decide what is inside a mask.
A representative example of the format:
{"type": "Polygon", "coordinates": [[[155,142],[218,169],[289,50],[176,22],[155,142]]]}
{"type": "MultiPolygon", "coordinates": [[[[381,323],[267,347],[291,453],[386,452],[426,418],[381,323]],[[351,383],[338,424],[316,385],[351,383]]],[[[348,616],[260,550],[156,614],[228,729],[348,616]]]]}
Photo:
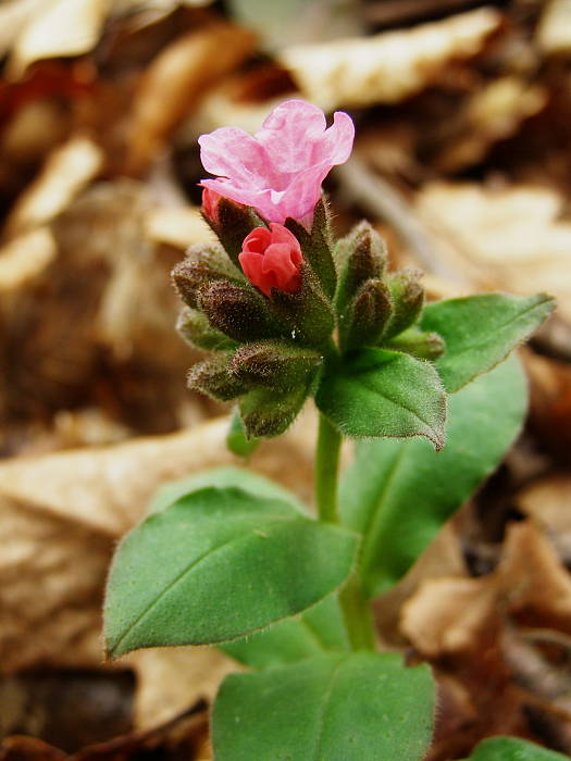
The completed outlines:
{"type": "Polygon", "coordinates": [[[200,288],[216,280],[244,283],[241,273],[228,261],[219,246],[194,246],[186,258],[175,265],[172,278],[183,301],[193,309],[198,305],[200,288]]]}

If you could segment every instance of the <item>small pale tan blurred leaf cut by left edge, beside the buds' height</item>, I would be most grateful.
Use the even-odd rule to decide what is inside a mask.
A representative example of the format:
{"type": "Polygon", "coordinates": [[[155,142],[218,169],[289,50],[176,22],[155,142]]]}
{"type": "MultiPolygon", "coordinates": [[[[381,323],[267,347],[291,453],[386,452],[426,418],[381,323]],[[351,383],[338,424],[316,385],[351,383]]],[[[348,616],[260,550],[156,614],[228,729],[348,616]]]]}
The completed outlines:
{"type": "Polygon", "coordinates": [[[58,253],[47,227],[24,233],[0,248],[0,292],[25,288],[40,276],[58,253]]]}

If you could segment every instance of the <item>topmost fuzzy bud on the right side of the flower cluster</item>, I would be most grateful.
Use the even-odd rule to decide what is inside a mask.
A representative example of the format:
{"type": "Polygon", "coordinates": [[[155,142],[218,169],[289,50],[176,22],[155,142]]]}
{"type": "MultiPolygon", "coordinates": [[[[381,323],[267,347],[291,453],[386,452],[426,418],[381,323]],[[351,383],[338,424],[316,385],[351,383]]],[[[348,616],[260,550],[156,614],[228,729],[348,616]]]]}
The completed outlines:
{"type": "Polygon", "coordinates": [[[386,249],[378,233],[369,222],[360,222],[335,250],[339,267],[336,304],[343,314],[365,280],[381,279],[386,265],[386,249]]]}

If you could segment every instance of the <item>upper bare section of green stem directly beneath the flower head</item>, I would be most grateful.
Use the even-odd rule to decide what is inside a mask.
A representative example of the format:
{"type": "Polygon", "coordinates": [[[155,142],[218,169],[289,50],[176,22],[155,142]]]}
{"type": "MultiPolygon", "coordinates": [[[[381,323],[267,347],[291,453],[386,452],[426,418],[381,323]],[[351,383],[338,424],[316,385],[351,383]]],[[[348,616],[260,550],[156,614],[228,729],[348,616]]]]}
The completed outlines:
{"type": "Polygon", "coordinates": [[[340,434],[324,415],[320,414],[315,453],[315,502],[319,520],[323,523],[339,523],[337,471],[340,445],[340,434]]]}

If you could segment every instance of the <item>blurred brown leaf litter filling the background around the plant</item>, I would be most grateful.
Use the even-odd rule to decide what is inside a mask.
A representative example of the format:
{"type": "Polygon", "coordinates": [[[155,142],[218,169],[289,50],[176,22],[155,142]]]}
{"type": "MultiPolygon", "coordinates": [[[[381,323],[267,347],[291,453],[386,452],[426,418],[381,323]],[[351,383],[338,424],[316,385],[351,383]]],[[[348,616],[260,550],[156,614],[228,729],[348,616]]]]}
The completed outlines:
{"type": "MultiPolygon", "coordinates": [[[[234,461],[170,271],[210,240],[197,137],[290,97],[356,122],[339,234],[368,216],[434,298],[558,298],[517,446],[377,613],[435,668],[430,761],[571,754],[570,0],[4,0],[0,55],[0,759],[211,757],[236,664],[103,663],[102,589],[160,484],[234,461]]],[[[310,500],[312,446],[309,412],[250,464],[310,500]]]]}

